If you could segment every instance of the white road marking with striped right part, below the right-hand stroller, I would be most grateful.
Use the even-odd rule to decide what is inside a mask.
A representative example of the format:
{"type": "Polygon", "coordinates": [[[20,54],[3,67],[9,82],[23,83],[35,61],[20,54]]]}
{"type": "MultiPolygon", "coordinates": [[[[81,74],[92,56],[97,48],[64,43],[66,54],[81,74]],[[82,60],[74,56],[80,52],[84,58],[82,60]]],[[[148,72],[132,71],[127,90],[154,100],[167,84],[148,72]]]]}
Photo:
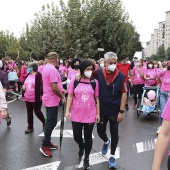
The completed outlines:
{"type": "Polygon", "coordinates": [[[136,143],[138,153],[154,150],[157,139],[136,143]]]}

